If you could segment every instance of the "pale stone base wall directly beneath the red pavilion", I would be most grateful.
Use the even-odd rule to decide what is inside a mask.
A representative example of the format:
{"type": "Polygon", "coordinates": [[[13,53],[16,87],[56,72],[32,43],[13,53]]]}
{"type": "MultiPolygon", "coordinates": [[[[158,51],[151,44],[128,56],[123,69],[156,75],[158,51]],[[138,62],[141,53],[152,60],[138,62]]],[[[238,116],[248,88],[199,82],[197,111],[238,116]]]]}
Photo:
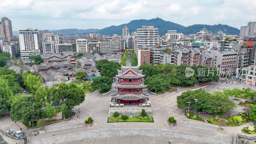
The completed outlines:
{"type": "Polygon", "coordinates": [[[109,108],[108,116],[113,116],[116,111],[120,115],[126,115],[126,116],[140,115],[142,109],[145,109],[146,113],[149,116],[152,116],[151,107],[109,108]]]}

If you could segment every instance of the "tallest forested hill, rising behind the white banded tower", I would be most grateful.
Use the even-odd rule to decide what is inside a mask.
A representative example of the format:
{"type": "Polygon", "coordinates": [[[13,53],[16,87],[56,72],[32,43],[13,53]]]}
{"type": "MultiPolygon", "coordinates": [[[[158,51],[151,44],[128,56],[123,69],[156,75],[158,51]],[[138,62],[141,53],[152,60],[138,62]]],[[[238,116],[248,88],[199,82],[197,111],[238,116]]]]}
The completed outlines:
{"type": "Polygon", "coordinates": [[[110,26],[107,28],[100,29],[99,31],[97,31],[97,33],[103,35],[117,34],[121,36],[122,28],[124,28],[124,26],[127,26],[129,28],[130,35],[132,32],[137,31],[137,28],[141,28],[142,26],[154,26],[155,28],[158,28],[158,33],[160,36],[165,35],[167,33],[167,30],[177,30],[177,32],[179,33],[183,28],[186,28],[180,24],[156,18],[151,20],[132,20],[129,23],[122,24],[119,26],[110,26]]]}

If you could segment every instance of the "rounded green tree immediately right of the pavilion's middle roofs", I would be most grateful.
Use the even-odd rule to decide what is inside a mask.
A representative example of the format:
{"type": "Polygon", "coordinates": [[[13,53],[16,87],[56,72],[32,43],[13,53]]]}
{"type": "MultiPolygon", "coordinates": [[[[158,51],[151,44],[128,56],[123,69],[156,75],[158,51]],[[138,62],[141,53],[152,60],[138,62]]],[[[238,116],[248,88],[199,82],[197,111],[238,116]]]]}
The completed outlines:
{"type": "Polygon", "coordinates": [[[165,74],[158,74],[145,78],[144,84],[147,85],[148,89],[151,91],[163,91],[169,86],[170,81],[166,79],[165,74]]]}

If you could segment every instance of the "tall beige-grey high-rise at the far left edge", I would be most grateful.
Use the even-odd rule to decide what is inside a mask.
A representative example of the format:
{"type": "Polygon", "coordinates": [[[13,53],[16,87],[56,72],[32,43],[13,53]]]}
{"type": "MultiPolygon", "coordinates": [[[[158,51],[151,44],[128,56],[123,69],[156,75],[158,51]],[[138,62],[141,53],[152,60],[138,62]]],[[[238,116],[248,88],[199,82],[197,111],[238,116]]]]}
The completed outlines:
{"type": "Polygon", "coordinates": [[[12,21],[6,17],[1,18],[0,21],[0,36],[4,36],[7,41],[11,41],[13,39],[12,21]]]}

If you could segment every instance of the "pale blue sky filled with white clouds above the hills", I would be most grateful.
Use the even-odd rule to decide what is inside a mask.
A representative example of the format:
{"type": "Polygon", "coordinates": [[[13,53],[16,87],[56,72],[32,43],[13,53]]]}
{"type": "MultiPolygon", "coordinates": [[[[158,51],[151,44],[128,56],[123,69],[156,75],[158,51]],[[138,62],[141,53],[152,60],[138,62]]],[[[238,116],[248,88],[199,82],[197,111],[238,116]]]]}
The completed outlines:
{"type": "Polygon", "coordinates": [[[161,18],[183,26],[256,21],[256,0],[1,0],[0,16],[13,31],[26,28],[105,28],[131,20],[161,18]]]}

